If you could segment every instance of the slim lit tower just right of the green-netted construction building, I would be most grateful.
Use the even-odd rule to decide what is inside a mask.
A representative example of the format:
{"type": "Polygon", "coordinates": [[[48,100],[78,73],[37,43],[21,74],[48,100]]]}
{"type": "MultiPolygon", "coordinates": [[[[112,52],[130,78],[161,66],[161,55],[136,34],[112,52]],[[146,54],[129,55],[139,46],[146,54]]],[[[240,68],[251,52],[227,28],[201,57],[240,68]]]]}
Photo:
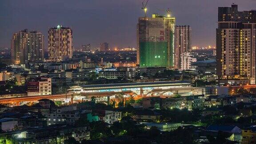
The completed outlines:
{"type": "Polygon", "coordinates": [[[192,43],[192,30],[189,25],[176,26],[175,28],[175,59],[174,68],[181,68],[181,56],[190,52],[192,43]]]}

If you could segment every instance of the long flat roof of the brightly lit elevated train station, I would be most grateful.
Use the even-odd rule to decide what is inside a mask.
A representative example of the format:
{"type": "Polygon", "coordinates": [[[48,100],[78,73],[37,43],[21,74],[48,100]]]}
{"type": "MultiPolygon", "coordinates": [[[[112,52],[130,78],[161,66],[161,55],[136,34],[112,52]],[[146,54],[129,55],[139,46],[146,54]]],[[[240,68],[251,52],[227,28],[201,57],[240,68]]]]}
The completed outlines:
{"type": "Polygon", "coordinates": [[[140,83],[123,83],[123,84],[94,84],[81,86],[84,90],[89,89],[113,89],[113,88],[144,88],[157,86],[191,86],[186,81],[156,81],[156,82],[140,82],[140,83]]]}

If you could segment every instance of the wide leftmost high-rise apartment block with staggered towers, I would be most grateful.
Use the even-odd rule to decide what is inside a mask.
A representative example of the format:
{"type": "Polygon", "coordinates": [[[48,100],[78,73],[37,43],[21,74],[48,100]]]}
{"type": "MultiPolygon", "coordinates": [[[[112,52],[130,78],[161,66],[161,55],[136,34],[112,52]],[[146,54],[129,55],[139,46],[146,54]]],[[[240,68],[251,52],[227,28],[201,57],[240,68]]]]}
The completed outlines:
{"type": "Polygon", "coordinates": [[[44,35],[24,29],[14,33],[11,40],[12,64],[27,64],[44,60],[44,35]]]}

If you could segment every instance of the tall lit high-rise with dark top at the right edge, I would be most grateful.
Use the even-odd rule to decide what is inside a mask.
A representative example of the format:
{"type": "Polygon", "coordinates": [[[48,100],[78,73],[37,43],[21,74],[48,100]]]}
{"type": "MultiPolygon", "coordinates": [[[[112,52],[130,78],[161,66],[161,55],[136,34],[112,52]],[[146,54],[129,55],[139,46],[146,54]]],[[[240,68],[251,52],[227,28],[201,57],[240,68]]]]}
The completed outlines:
{"type": "Polygon", "coordinates": [[[220,79],[249,79],[251,84],[255,84],[256,24],[250,23],[254,20],[245,20],[252,16],[250,13],[244,16],[246,13],[238,12],[237,5],[219,8],[220,21],[216,29],[217,75],[220,79]],[[238,16],[233,16],[232,12],[238,16]],[[223,19],[220,19],[220,15],[223,19]]]}

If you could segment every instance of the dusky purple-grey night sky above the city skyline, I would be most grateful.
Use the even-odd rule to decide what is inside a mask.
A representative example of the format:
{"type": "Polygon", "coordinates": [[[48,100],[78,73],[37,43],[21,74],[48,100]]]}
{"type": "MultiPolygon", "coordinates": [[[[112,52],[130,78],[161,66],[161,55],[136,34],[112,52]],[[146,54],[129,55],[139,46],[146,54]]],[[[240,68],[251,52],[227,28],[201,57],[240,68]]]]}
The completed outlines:
{"type": "MultiPolygon", "coordinates": [[[[135,47],[143,0],[0,0],[0,47],[10,47],[14,32],[28,28],[43,32],[60,24],[73,30],[73,45],[135,47]]],[[[215,45],[219,6],[238,4],[240,11],[256,9],[256,0],[149,0],[148,16],[170,8],[176,24],[192,27],[192,45],[215,45]]],[[[47,48],[47,45],[45,45],[47,48]]]]}

